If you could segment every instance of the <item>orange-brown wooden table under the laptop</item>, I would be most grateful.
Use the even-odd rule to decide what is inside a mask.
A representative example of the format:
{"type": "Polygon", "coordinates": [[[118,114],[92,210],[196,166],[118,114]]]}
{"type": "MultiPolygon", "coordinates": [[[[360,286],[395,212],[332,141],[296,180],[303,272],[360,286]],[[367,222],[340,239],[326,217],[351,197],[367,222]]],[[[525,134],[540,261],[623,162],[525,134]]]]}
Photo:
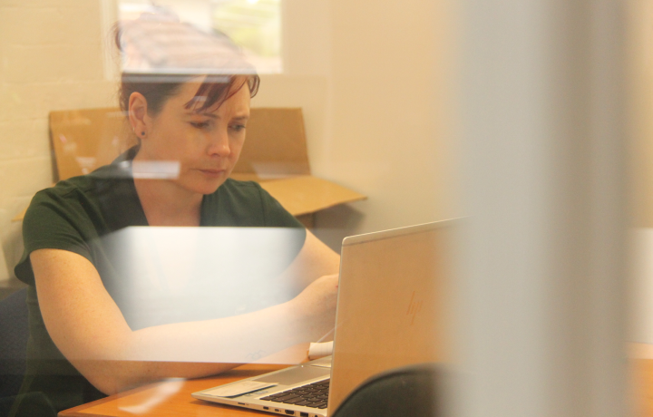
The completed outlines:
{"type": "MultiPolygon", "coordinates": [[[[653,416],[653,344],[629,345],[631,397],[637,417],[653,416]]],[[[60,417],[133,417],[201,416],[245,417],[271,416],[267,412],[230,407],[195,400],[190,393],[223,383],[231,383],[260,373],[276,371],[288,365],[247,364],[227,373],[196,380],[170,380],[152,383],[131,391],[89,402],[59,413],[60,417]]]]}

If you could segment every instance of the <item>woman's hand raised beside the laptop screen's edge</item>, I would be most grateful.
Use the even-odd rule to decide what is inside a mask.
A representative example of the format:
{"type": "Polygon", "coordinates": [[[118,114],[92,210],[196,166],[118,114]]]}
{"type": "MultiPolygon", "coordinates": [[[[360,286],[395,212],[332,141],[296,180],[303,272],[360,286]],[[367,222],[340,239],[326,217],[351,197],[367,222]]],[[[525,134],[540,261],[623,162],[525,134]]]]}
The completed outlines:
{"type": "Polygon", "coordinates": [[[322,276],[289,302],[304,318],[304,328],[313,342],[331,333],[336,325],[337,286],[337,274],[322,276]]]}

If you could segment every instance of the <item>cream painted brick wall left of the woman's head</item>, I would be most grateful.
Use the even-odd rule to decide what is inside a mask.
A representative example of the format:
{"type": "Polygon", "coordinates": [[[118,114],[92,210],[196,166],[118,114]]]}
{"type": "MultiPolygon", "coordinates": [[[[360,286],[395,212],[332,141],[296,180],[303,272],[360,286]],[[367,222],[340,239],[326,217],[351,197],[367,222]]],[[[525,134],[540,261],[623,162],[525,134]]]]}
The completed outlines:
{"type": "Polygon", "coordinates": [[[101,26],[98,1],[0,3],[0,238],[9,267],[22,252],[11,218],[52,181],[48,112],[113,103],[101,26]]]}

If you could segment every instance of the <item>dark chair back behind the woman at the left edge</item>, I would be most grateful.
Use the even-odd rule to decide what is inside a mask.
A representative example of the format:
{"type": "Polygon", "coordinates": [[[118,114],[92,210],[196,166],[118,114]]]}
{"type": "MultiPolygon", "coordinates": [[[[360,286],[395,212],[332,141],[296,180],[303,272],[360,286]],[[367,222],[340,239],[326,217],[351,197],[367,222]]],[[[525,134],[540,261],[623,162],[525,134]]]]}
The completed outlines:
{"type": "Polygon", "coordinates": [[[29,338],[26,296],[23,288],[0,301],[0,416],[9,412],[23,383],[29,338]]]}

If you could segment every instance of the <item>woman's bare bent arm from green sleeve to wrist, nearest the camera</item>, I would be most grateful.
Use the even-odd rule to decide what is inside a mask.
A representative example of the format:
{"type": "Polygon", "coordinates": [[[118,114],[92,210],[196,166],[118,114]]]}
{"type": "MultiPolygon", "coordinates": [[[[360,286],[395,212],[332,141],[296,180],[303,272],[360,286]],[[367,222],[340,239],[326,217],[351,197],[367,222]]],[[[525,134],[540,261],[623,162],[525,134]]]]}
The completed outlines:
{"type": "MultiPolygon", "coordinates": [[[[311,247],[317,244],[312,239],[317,240],[307,238],[298,261],[333,264],[327,252],[312,254],[311,247]]],[[[287,303],[258,312],[132,331],[88,259],[58,249],[36,250],[30,259],[48,333],[103,393],[164,377],[220,373],[249,362],[250,354],[272,354],[317,340],[335,321],[337,276],[323,276],[287,303]],[[179,364],[183,361],[190,363],[179,364]]],[[[314,272],[320,275],[317,269],[314,272]]]]}

